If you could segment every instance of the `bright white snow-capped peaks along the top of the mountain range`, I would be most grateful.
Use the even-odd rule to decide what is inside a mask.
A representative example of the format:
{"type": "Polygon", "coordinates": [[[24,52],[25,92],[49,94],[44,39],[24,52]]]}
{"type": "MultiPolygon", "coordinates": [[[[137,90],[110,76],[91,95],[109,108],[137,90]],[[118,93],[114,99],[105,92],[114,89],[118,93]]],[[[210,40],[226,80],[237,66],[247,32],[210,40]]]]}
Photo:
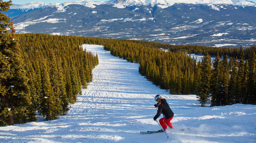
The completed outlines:
{"type": "Polygon", "coordinates": [[[77,4],[77,5],[83,5],[86,7],[94,8],[94,5],[101,5],[101,4],[114,4],[117,8],[125,8],[127,6],[133,6],[133,5],[145,5],[145,6],[151,6],[154,7],[158,5],[161,8],[167,8],[169,6],[172,6],[174,4],[227,4],[227,5],[234,5],[234,6],[252,6],[256,7],[256,4],[252,1],[240,1],[240,0],[110,0],[106,2],[94,2],[94,1],[75,1],[75,2],[65,2],[63,4],[59,3],[44,3],[39,1],[34,1],[25,5],[17,5],[13,4],[10,9],[21,9],[23,11],[28,11],[29,9],[34,8],[47,8],[56,6],[58,8],[64,8],[65,6],[71,5],[71,4],[77,4]]]}

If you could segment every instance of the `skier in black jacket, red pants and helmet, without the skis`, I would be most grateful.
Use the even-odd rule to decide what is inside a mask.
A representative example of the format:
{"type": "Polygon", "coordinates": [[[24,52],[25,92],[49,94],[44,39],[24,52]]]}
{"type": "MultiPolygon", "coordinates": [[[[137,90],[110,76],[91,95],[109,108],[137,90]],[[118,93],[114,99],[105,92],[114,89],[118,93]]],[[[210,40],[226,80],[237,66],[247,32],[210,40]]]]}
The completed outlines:
{"type": "Polygon", "coordinates": [[[157,120],[158,117],[160,117],[161,114],[163,114],[163,118],[159,120],[160,125],[163,127],[164,130],[167,129],[167,126],[169,128],[173,128],[172,123],[170,122],[174,116],[174,113],[172,112],[170,106],[166,102],[166,99],[162,98],[160,95],[155,96],[155,100],[157,101],[157,104],[155,104],[155,107],[158,107],[157,115],[153,118],[154,120],[157,120]]]}

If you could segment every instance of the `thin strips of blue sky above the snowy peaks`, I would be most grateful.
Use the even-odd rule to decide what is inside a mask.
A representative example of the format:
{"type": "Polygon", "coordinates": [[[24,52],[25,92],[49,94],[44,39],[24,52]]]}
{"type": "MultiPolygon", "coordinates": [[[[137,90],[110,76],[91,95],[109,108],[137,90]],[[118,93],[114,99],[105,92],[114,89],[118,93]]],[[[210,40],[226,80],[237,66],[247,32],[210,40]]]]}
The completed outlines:
{"type": "MultiPolygon", "coordinates": [[[[9,0],[4,0],[4,1],[9,1],[9,0]]],[[[41,1],[44,3],[64,3],[64,2],[75,2],[75,1],[81,1],[81,0],[11,0],[13,4],[27,4],[33,1],[41,1]]],[[[91,1],[109,1],[109,0],[91,0],[91,1]]],[[[245,0],[242,0],[245,1],[245,0]]],[[[249,1],[253,1],[256,2],[256,0],[249,0],[249,1]]]]}

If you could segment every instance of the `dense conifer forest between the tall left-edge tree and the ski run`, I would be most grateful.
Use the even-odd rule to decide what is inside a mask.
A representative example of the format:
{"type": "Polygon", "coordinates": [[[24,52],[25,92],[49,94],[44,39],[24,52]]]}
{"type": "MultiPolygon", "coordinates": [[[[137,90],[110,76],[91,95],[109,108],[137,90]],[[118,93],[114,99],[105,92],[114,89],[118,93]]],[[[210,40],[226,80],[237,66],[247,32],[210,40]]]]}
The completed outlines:
{"type": "Polygon", "coordinates": [[[32,105],[47,120],[66,114],[81,87],[92,81],[97,55],[83,51],[83,40],[75,36],[20,34],[32,105]]]}

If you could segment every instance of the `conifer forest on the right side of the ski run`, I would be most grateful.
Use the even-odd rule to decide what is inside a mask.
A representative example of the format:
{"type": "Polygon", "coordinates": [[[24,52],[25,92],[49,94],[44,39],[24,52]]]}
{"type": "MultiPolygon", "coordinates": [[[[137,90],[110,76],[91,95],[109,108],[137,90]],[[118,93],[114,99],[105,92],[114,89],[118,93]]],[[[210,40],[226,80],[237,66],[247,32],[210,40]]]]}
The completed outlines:
{"type": "Polygon", "coordinates": [[[255,46],[243,49],[114,40],[105,43],[105,50],[139,63],[141,75],[171,94],[197,94],[202,106],[207,100],[212,106],[256,103],[255,46]],[[204,57],[197,63],[187,55],[192,53],[204,57]]]}

